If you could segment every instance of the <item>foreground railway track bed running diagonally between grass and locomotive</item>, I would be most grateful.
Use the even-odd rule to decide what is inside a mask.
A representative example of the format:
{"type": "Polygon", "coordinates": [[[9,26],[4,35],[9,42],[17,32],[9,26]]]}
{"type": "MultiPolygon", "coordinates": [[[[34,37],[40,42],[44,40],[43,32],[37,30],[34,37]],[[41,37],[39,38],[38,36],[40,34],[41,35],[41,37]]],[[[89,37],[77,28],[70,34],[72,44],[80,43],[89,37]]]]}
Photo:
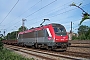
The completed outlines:
{"type": "Polygon", "coordinates": [[[43,49],[32,49],[19,46],[6,45],[7,48],[19,53],[24,53],[22,55],[31,56],[35,59],[44,59],[44,60],[89,60],[90,55],[87,53],[79,53],[72,51],[48,51],[43,49]],[[28,55],[27,55],[28,54],[28,55]]]}

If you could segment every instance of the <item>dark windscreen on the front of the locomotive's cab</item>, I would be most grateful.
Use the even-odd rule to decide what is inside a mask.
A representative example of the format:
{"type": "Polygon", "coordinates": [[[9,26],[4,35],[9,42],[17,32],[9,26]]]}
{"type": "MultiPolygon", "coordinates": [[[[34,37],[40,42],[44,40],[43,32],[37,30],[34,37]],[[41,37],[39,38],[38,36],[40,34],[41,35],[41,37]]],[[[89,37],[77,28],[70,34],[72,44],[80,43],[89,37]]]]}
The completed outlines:
{"type": "Polygon", "coordinates": [[[67,35],[64,26],[62,26],[60,24],[54,24],[53,28],[54,28],[54,31],[55,31],[56,35],[61,35],[61,36],[67,35]]]}

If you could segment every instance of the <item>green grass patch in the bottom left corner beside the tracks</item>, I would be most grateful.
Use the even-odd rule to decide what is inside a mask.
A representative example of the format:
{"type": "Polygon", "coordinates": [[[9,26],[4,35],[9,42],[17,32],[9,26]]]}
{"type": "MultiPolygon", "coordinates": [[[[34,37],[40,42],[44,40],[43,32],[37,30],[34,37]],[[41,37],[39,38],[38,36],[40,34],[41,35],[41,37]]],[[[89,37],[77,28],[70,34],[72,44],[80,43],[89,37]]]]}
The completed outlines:
{"type": "Polygon", "coordinates": [[[23,56],[18,55],[13,51],[4,48],[3,50],[0,50],[0,60],[34,60],[34,59],[24,58],[23,56]]]}

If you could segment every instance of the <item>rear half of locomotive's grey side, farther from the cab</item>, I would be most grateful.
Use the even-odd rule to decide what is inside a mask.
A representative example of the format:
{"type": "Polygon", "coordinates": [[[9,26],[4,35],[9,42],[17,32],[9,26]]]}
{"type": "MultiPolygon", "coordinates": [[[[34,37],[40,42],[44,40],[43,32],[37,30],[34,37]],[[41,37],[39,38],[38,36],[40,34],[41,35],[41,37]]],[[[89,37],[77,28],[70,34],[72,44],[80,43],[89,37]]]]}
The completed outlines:
{"type": "Polygon", "coordinates": [[[19,34],[18,43],[28,45],[28,46],[33,45],[34,42],[36,42],[34,34],[35,34],[35,32],[19,34]]]}

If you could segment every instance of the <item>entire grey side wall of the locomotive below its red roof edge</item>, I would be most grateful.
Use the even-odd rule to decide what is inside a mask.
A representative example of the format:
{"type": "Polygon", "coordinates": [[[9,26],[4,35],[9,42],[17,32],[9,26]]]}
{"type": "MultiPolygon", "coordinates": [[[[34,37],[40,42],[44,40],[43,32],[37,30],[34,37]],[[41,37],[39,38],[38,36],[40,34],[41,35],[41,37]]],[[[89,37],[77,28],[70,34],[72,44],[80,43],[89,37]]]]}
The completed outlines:
{"type": "Polygon", "coordinates": [[[42,29],[39,31],[19,34],[18,43],[22,43],[28,46],[32,46],[35,43],[45,44],[48,46],[52,46],[53,39],[48,39],[49,34],[46,29],[42,29]]]}

